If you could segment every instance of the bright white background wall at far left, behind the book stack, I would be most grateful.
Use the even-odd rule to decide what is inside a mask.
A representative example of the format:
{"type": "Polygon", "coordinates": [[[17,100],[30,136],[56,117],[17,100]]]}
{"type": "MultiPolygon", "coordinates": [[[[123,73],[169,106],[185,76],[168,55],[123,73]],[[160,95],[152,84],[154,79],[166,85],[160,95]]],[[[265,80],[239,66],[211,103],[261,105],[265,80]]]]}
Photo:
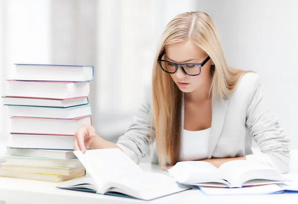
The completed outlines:
{"type": "MultiPolygon", "coordinates": [[[[0,95],[14,73],[14,63],[50,63],[50,1],[1,0],[0,95]]],[[[10,124],[0,105],[0,140],[7,140],[10,124]]]]}

